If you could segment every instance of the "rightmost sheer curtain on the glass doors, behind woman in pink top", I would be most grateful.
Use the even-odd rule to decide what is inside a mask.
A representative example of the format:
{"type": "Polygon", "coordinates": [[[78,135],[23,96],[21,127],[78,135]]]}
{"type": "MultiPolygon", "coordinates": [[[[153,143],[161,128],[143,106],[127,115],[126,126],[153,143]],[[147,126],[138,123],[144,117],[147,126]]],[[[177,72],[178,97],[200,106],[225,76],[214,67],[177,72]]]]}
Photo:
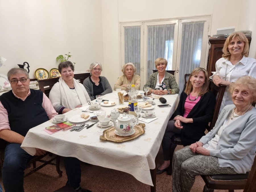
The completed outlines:
{"type": "Polygon", "coordinates": [[[180,93],[184,86],[184,75],[199,67],[205,21],[182,23],[181,57],[179,63],[180,93]]]}

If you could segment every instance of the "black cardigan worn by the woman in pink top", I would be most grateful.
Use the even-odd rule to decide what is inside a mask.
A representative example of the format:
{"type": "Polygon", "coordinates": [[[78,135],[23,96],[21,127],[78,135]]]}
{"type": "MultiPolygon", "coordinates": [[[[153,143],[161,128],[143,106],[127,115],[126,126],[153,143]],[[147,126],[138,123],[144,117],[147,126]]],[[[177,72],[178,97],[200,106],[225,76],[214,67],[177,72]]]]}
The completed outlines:
{"type": "MultiPolygon", "coordinates": [[[[175,116],[183,116],[186,98],[187,94],[182,92],[175,116]]],[[[208,123],[212,121],[215,103],[215,96],[213,92],[209,91],[201,96],[200,100],[189,112],[186,118],[192,118],[193,123],[182,122],[183,129],[181,129],[181,142],[184,146],[199,141],[199,139],[205,135],[205,129],[207,128],[208,123]]]]}

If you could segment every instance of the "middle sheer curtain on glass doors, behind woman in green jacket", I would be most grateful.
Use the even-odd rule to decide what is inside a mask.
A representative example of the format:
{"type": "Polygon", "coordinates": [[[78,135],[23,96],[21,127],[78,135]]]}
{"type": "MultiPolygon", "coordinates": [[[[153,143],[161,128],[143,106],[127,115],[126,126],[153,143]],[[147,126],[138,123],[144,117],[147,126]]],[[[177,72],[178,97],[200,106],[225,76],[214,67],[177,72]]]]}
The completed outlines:
{"type": "Polygon", "coordinates": [[[163,57],[168,61],[167,69],[172,67],[172,51],[175,24],[150,25],[147,27],[147,77],[155,68],[155,60],[163,57]],[[170,67],[169,67],[170,66],[170,67]]]}

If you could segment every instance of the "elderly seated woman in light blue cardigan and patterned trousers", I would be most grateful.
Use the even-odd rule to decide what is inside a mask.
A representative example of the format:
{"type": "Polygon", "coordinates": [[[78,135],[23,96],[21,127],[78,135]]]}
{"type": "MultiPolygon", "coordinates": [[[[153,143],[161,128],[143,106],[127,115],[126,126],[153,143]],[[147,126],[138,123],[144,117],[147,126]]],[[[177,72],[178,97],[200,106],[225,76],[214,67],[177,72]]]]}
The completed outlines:
{"type": "Polygon", "coordinates": [[[215,127],[198,142],[174,154],[172,191],[190,191],[197,175],[245,174],[256,151],[256,79],[230,84],[234,105],[221,111],[215,127]]]}

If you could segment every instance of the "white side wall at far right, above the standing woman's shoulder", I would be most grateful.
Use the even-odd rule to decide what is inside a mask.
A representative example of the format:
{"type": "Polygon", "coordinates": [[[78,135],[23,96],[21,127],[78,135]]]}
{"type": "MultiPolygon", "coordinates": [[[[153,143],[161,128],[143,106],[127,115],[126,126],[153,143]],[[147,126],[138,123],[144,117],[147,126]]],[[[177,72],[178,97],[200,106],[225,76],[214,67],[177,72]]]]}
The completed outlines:
{"type": "Polygon", "coordinates": [[[238,30],[251,30],[251,45],[249,57],[256,58],[256,1],[244,0],[241,2],[241,11],[238,24],[238,30]]]}

